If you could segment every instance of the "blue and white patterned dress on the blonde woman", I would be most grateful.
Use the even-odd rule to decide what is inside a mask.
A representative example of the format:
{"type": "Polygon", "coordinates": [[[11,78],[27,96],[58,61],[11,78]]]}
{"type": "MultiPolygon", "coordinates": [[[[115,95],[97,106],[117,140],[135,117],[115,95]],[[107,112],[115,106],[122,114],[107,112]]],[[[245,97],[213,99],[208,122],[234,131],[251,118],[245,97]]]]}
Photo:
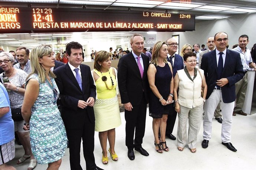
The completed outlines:
{"type": "Polygon", "coordinates": [[[37,74],[31,75],[31,78],[39,82],[39,95],[32,106],[29,122],[31,149],[37,163],[52,163],[61,159],[67,147],[66,129],[53,92],[53,88],[58,93],[59,89],[53,78],[53,88],[47,82],[40,82],[37,74]]]}

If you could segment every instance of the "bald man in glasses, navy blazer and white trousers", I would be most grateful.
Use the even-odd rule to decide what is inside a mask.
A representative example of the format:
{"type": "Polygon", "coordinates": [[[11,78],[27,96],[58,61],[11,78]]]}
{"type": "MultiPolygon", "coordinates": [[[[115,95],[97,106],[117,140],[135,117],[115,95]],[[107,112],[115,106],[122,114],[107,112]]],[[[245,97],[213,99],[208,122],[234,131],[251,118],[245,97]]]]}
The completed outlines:
{"type": "Polygon", "coordinates": [[[221,143],[229,150],[236,152],[230,143],[234,101],[236,99],[235,83],[244,76],[243,65],[239,53],[228,50],[228,36],[224,32],[214,35],[216,49],[203,55],[201,69],[207,83],[207,95],[204,105],[204,132],[202,147],[207,148],[211,139],[212,118],[218,103],[221,105],[223,122],[221,143]]]}

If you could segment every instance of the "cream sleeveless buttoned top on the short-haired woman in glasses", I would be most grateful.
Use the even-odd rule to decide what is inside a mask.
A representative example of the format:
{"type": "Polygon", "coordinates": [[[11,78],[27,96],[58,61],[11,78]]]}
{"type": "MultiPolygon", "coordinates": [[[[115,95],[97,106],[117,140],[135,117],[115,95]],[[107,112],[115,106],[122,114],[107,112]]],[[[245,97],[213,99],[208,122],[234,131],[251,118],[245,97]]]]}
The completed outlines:
{"type": "MultiPolygon", "coordinates": [[[[204,71],[200,69],[201,75],[204,75],[204,71]]],[[[203,104],[203,98],[201,97],[201,84],[202,78],[197,71],[196,78],[191,81],[188,78],[184,69],[177,71],[179,76],[178,85],[178,101],[181,106],[187,108],[194,108],[203,104]]]]}

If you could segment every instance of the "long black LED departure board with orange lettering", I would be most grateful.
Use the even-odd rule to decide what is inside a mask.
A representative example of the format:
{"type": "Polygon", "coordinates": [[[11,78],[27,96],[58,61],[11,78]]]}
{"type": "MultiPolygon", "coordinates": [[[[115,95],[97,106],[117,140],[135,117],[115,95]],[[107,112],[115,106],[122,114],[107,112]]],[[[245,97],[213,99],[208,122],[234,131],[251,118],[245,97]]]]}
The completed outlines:
{"type": "Polygon", "coordinates": [[[193,30],[195,16],[190,14],[0,7],[0,33],[193,30]]]}

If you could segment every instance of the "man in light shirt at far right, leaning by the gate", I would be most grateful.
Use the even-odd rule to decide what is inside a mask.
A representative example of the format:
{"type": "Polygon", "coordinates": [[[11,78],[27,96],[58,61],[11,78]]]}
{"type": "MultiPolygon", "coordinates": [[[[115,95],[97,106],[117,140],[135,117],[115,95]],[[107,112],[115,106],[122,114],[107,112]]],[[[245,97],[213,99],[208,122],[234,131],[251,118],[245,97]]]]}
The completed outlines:
{"type": "Polygon", "coordinates": [[[246,45],[249,43],[248,35],[241,35],[238,39],[238,43],[239,45],[232,50],[239,52],[245,75],[239,82],[236,83],[236,107],[234,108],[233,116],[236,116],[236,114],[247,116],[247,113],[242,111],[248,84],[247,71],[250,67],[256,71],[256,66],[252,61],[250,50],[246,47],[246,45]]]}

